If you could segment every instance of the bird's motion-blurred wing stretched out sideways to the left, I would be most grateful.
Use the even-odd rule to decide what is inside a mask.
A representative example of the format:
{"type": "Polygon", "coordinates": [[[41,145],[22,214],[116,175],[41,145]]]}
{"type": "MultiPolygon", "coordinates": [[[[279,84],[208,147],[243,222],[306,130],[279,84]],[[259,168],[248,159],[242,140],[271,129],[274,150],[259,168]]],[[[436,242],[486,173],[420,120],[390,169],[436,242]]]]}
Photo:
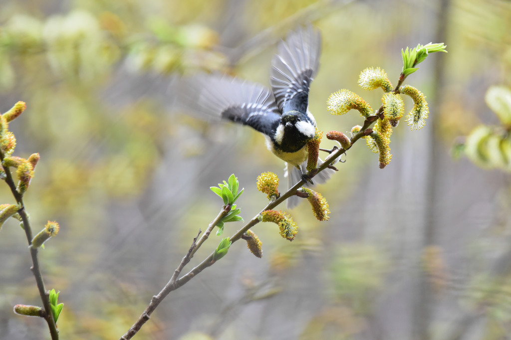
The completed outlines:
{"type": "Polygon", "coordinates": [[[181,107],[197,115],[229,119],[268,136],[281,120],[273,94],[263,85],[201,74],[183,79],[181,86],[181,107]]]}

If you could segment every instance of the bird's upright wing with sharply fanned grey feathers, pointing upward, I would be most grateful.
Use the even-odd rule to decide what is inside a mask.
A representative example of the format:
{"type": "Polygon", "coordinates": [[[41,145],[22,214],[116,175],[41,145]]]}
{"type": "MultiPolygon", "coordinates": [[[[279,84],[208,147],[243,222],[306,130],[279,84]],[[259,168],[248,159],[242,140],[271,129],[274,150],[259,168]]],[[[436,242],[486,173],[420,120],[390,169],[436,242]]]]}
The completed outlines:
{"type": "Polygon", "coordinates": [[[305,113],[309,87],[319,68],[321,35],[308,26],[291,32],[281,41],[273,57],[271,89],[282,112],[298,110],[305,113]]]}

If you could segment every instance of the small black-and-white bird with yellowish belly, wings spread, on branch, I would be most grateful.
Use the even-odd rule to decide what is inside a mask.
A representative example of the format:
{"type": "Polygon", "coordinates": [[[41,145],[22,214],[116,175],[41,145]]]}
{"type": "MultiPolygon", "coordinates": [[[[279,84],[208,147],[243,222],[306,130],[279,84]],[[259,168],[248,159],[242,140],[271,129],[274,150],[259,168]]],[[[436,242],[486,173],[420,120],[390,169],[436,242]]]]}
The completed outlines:
{"type": "MultiPolygon", "coordinates": [[[[181,89],[187,93],[180,97],[188,100],[181,107],[263,133],[268,150],[286,162],[285,176],[292,187],[300,179],[308,179],[307,142],[316,133],[316,120],[309,111],[309,89],[319,69],[320,54],[319,30],[312,25],[300,27],[278,43],[271,61],[271,89],[227,75],[197,74],[182,79],[181,89]]],[[[314,177],[314,182],[323,183],[332,173],[327,168],[314,177]]],[[[298,203],[298,197],[292,196],[287,208],[298,203]]]]}

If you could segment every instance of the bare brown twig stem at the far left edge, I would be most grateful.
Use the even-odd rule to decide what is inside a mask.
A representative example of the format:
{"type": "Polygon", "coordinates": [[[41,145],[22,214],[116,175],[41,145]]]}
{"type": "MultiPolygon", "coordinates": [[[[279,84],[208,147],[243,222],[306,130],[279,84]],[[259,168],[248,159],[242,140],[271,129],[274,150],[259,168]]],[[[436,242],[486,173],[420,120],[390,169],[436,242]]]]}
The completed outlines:
{"type": "MultiPolygon", "coordinates": [[[[2,164],[4,163],[5,155],[2,151],[0,151],[0,161],[2,164]]],[[[18,190],[16,189],[16,184],[14,183],[14,179],[12,178],[11,170],[8,166],[3,166],[5,171],[5,182],[7,185],[9,185],[9,188],[11,189],[12,195],[14,196],[14,199],[16,200],[16,203],[19,205],[19,216],[21,217],[21,221],[23,223],[23,229],[25,230],[25,234],[27,235],[27,241],[29,243],[29,246],[32,245],[32,228],[30,226],[30,220],[29,216],[27,214],[27,211],[25,209],[25,203],[23,202],[23,195],[21,195],[18,190]]],[[[50,329],[50,334],[52,336],[52,340],[58,340],[59,338],[59,331],[57,329],[57,325],[55,324],[55,321],[53,320],[53,313],[52,309],[50,307],[50,295],[47,292],[46,288],[44,287],[44,281],[42,279],[42,273],[39,266],[39,259],[37,257],[37,248],[30,247],[30,255],[32,257],[32,267],[30,270],[34,274],[35,281],[37,283],[37,288],[39,290],[39,295],[41,297],[42,305],[44,307],[45,315],[44,320],[46,320],[48,324],[48,328],[50,329]]]]}

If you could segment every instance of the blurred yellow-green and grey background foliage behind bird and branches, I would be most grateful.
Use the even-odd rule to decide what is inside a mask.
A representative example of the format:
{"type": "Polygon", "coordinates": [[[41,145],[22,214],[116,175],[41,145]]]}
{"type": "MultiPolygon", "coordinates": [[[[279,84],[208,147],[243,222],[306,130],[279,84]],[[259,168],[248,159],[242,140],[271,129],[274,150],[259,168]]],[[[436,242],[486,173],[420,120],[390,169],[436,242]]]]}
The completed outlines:
{"type": "MultiPolygon", "coordinates": [[[[493,85],[511,86],[508,1],[1,7],[0,111],[27,103],[11,124],[15,155],[41,155],[27,208],[36,230],[47,220],[61,225],[40,259],[47,287],[65,303],[62,338],[124,334],[218,212],[210,186],[235,173],[248,220],[266,204],[255,178],[272,171],[285,182],[262,136],[178,112],[173,89],[180,75],[199,70],[269,85],[275,44],[307,22],[323,36],[310,108],[324,131],[361,123],[358,114],[327,114],[336,90],[380,105],[381,93],[357,88],[362,69],[382,67],[395,84],[401,48],[445,42],[449,54],[431,56],[407,81],[428,98],[426,128],[394,130],[384,171],[356,144],[318,187],[330,203],[328,222],[303,203],[291,211],[299,226],[292,243],[274,225],[258,225],[262,260],[235,244],[173,292],[135,338],[491,340],[511,332],[509,174],[450,155],[476,126],[502,126],[484,98],[493,85]]],[[[7,186],[0,198],[12,203],[7,186]]],[[[227,235],[237,228],[226,226],[227,235]]],[[[16,303],[39,303],[24,237],[15,221],[0,233],[2,339],[48,338],[42,320],[12,312],[16,303]]]]}

